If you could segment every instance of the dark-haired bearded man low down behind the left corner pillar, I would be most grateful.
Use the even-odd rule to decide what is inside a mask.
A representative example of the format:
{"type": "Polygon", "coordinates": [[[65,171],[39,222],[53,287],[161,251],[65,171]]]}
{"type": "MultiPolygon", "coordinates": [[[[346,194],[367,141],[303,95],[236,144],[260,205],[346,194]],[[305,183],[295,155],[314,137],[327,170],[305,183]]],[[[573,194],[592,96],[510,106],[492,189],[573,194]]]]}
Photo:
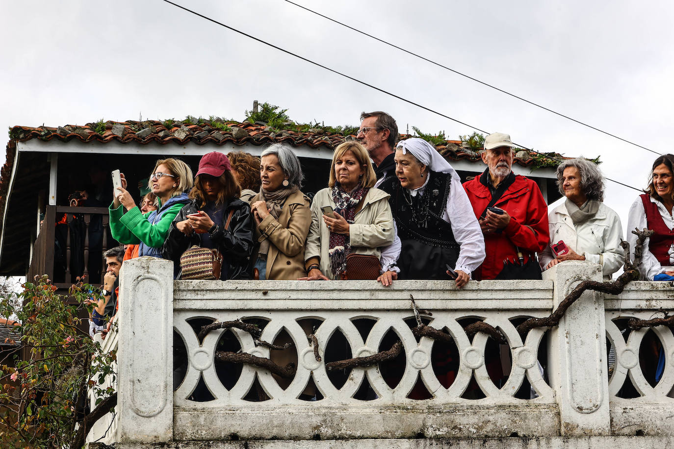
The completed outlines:
{"type": "Polygon", "coordinates": [[[100,294],[102,300],[96,301],[89,299],[87,304],[94,306],[89,320],[89,333],[93,337],[94,331],[101,331],[116,313],[117,309],[117,287],[119,287],[119,269],[121,269],[124,260],[124,246],[115,246],[104,252],[105,276],[100,294]]]}

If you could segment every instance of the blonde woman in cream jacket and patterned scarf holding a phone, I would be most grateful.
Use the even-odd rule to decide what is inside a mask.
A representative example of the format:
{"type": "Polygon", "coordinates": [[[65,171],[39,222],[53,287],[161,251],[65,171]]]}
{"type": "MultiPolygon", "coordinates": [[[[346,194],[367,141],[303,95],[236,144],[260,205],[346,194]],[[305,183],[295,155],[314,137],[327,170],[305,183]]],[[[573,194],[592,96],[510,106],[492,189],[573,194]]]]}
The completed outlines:
{"type": "Polygon", "coordinates": [[[364,263],[351,279],[361,278],[365,268],[379,275],[380,248],[392,244],[394,229],[388,194],[373,187],[376,180],[363,145],[347,141],[335,149],[329,187],[316,193],[311,203],[304,254],[307,276],[300,279],[340,279],[349,254],[373,256],[361,258],[364,263]],[[375,261],[374,269],[370,261],[375,261]]]}

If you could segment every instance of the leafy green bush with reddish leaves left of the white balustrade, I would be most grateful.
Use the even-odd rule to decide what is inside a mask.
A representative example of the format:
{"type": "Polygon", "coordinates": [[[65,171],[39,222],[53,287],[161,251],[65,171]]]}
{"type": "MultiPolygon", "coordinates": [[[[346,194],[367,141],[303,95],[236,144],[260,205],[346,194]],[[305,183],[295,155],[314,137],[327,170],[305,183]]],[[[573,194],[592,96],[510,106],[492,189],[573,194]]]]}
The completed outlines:
{"type": "Polygon", "coordinates": [[[27,354],[0,366],[0,442],[9,448],[81,449],[96,419],[117,403],[113,388],[105,386],[106,378],[116,376],[115,353],[104,353],[78,328],[84,301],[100,296],[91,285],[77,283],[65,298],[46,275],[23,287],[21,307],[16,298],[0,300],[0,315],[16,317],[11,330],[27,354]],[[88,390],[96,408],[85,413],[88,390]]]}

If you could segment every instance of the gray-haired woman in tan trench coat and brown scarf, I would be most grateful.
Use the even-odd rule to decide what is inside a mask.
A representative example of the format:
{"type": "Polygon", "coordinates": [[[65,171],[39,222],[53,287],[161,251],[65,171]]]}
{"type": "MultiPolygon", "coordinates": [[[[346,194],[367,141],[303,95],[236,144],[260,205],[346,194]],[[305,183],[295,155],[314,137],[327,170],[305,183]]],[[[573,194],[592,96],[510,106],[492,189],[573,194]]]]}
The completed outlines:
{"type": "Polygon", "coordinates": [[[262,186],[251,199],[259,279],[304,277],[311,201],[299,190],[304,180],[299,159],[290,147],[275,143],[262,151],[259,176],[262,186]]]}

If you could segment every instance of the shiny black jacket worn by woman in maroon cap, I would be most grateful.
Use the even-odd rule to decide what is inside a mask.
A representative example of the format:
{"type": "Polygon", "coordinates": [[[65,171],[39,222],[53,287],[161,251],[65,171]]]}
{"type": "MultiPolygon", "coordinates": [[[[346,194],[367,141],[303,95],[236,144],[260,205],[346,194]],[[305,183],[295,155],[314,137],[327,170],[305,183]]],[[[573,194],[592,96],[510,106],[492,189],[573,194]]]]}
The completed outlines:
{"type": "MultiPolygon", "coordinates": [[[[192,245],[200,244],[198,234],[186,236],[176,228],[176,223],[185,220],[187,215],[197,213],[199,210],[195,201],[187,203],[173,219],[164,246],[162,246],[164,258],[173,261],[175,275],[180,271],[180,256],[183,252],[192,245]]],[[[224,260],[228,263],[227,279],[251,279],[251,254],[253,254],[255,245],[253,244],[253,215],[249,205],[239,199],[229,201],[224,205],[222,220],[222,223],[216,223],[220,229],[211,236],[211,240],[218,246],[224,260]],[[225,230],[224,221],[231,210],[234,210],[232,220],[228,230],[225,230]]]]}

